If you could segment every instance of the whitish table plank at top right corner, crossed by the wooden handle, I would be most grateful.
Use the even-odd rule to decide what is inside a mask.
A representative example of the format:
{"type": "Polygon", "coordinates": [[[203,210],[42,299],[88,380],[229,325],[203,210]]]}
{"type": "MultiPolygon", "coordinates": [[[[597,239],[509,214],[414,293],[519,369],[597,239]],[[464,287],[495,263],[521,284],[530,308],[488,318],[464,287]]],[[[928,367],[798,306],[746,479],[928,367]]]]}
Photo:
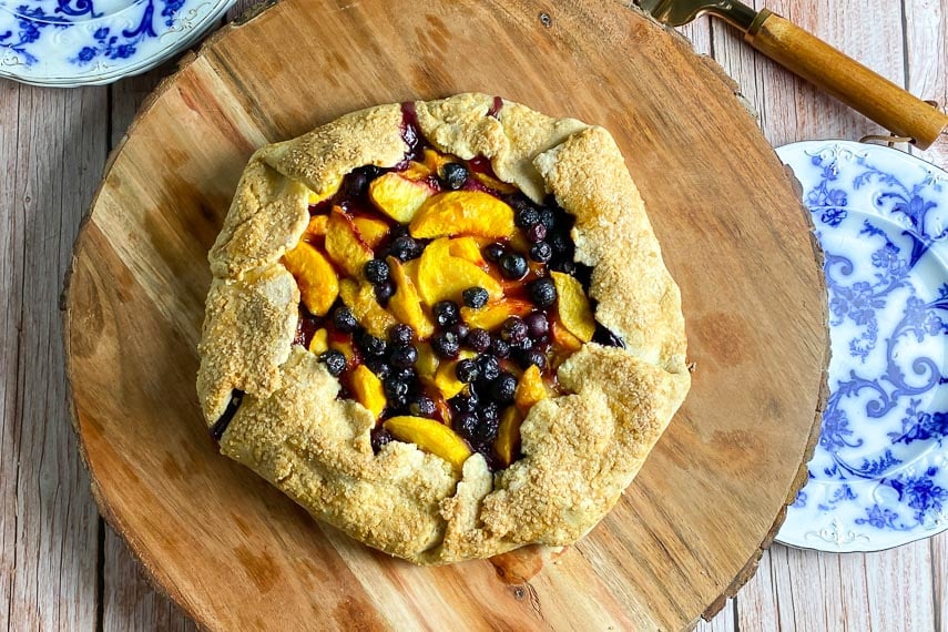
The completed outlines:
{"type": "MultiPolygon", "coordinates": [[[[948,105],[948,2],[945,0],[905,0],[906,67],[908,91],[921,99],[948,105]]],[[[948,136],[926,152],[922,159],[948,169],[948,136]]]]}

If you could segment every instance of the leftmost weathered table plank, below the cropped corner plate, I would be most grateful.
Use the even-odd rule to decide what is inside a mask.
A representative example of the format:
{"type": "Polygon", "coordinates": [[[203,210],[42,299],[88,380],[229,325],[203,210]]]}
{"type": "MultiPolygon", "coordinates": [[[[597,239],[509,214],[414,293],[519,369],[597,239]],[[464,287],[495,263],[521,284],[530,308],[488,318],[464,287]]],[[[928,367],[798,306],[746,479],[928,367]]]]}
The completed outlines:
{"type": "Polygon", "coordinates": [[[4,319],[18,329],[16,359],[4,359],[3,370],[13,371],[18,386],[3,410],[2,531],[12,520],[16,542],[2,606],[12,629],[88,630],[95,625],[99,523],[70,427],[58,303],[105,159],[106,93],[6,84],[3,91],[18,100],[17,115],[3,119],[16,139],[4,132],[0,144],[12,194],[3,226],[4,258],[12,253],[13,263],[3,279],[4,319]]]}

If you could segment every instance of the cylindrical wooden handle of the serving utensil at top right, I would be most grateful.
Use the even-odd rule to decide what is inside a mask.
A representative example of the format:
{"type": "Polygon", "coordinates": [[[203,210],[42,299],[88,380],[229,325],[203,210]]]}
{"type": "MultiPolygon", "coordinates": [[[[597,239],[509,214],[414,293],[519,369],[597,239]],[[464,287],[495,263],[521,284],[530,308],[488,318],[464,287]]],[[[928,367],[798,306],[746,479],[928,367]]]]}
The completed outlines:
{"type": "Polygon", "coordinates": [[[948,115],[913,96],[789,20],[766,9],[744,35],[755,49],[921,149],[948,128],[948,115]]]}

